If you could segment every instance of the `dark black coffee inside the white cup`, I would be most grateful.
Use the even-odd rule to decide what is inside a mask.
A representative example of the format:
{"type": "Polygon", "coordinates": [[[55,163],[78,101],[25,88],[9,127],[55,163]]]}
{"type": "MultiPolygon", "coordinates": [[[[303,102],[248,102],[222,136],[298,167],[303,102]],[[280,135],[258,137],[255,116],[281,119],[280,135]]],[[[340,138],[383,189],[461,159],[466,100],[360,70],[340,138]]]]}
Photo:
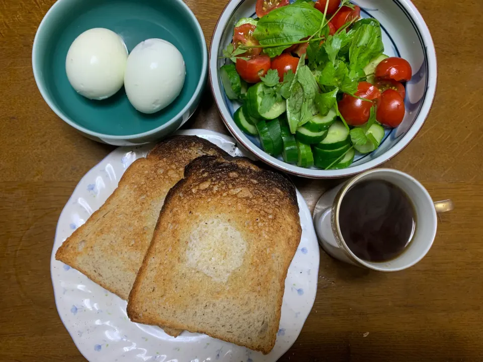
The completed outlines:
{"type": "Polygon", "coordinates": [[[356,184],[342,199],[339,225],[349,249],[367,261],[400,255],[415,230],[414,207],[406,193],[385,181],[356,184]]]}

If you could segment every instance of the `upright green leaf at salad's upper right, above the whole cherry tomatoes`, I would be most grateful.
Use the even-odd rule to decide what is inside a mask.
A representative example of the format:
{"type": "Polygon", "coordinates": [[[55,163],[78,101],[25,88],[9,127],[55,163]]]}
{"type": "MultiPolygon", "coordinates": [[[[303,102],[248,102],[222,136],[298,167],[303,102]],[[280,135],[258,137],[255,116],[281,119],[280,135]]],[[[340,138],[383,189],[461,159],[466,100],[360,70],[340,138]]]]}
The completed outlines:
{"type": "Polygon", "coordinates": [[[364,68],[371,59],[384,52],[382,32],[380,26],[362,24],[354,34],[349,49],[350,68],[358,70],[364,68]]]}

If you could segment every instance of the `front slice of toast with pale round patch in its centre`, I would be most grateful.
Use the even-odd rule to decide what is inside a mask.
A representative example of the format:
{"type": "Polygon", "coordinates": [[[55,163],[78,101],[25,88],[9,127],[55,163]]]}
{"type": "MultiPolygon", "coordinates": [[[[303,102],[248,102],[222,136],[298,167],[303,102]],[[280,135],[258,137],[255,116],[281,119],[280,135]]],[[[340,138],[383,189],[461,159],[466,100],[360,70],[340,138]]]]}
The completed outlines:
{"type": "Polygon", "coordinates": [[[195,159],[163,205],[129,318],[270,352],[302,232],[298,211],[281,174],[246,158],[195,159]]]}

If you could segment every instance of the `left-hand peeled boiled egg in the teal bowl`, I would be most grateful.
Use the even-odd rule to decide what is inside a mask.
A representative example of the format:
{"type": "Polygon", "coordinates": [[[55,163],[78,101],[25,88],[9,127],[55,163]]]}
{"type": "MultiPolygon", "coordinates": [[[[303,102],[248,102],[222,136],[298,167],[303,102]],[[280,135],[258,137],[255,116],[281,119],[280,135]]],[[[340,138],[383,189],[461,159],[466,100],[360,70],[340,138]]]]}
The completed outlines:
{"type": "Polygon", "coordinates": [[[75,91],[92,100],[111,97],[124,83],[128,51],[122,38],[109,29],[94,28],[70,45],[65,70],[75,91]]]}

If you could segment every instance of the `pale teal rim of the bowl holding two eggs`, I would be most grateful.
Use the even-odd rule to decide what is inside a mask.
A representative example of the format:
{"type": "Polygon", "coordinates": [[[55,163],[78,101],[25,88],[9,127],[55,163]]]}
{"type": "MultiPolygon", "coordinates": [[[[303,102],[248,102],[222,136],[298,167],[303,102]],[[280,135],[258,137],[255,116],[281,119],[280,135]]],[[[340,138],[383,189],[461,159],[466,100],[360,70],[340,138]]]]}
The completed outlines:
{"type": "Polygon", "coordinates": [[[69,124],[70,126],[77,129],[78,131],[81,131],[83,133],[86,133],[86,134],[94,136],[94,137],[110,139],[110,140],[135,140],[135,139],[138,139],[138,138],[142,138],[142,137],[146,137],[146,136],[156,134],[157,132],[162,131],[166,128],[169,128],[172,124],[178,122],[179,119],[182,118],[183,115],[189,109],[191,109],[191,107],[195,103],[198,95],[200,95],[201,92],[203,91],[204,85],[206,83],[207,73],[208,73],[208,71],[207,71],[207,68],[208,68],[208,49],[207,49],[207,46],[206,46],[205,36],[203,34],[203,30],[201,29],[201,25],[198,22],[198,19],[196,18],[194,13],[191,11],[191,9],[188,7],[188,5],[186,5],[183,2],[183,0],[174,0],[184,8],[184,10],[188,13],[188,15],[193,20],[194,25],[195,25],[196,30],[197,30],[198,40],[201,42],[201,52],[203,53],[202,64],[201,64],[201,75],[200,75],[200,79],[198,81],[198,84],[196,86],[195,92],[193,93],[193,95],[191,96],[190,100],[185,105],[185,107],[183,107],[183,109],[178,114],[176,114],[176,116],[174,116],[172,119],[170,119],[165,124],[160,125],[156,128],[153,128],[152,130],[142,132],[142,133],[136,133],[136,134],[132,134],[132,135],[110,135],[110,134],[107,134],[107,133],[99,133],[99,132],[91,131],[90,129],[85,128],[83,126],[80,126],[77,123],[73,122],[69,117],[66,117],[59,110],[59,108],[51,101],[50,96],[48,96],[46,88],[42,84],[42,81],[41,81],[42,71],[37,67],[37,62],[38,62],[38,57],[39,57],[38,49],[37,49],[38,39],[41,36],[40,34],[43,33],[43,29],[46,26],[46,23],[48,21],[49,16],[55,11],[55,9],[61,3],[68,3],[68,2],[73,3],[75,1],[77,1],[77,0],[57,0],[50,7],[50,9],[47,11],[47,13],[45,13],[42,21],[40,22],[39,27],[37,28],[37,32],[35,33],[34,43],[33,43],[33,46],[32,46],[32,69],[33,69],[33,73],[34,73],[35,83],[37,84],[37,88],[39,89],[39,92],[40,92],[42,98],[47,103],[47,105],[50,107],[50,109],[52,111],[54,111],[54,113],[59,118],[61,118],[65,123],[69,124]]]}

